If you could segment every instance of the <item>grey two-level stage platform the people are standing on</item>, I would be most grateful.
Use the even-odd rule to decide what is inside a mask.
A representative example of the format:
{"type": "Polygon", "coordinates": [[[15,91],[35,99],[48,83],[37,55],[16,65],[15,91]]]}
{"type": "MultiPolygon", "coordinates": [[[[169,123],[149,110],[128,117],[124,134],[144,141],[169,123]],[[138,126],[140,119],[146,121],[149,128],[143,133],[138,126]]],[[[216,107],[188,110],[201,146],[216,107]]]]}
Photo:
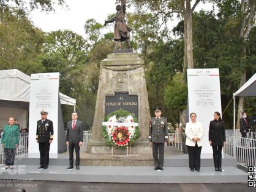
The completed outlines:
{"type": "MultiPolygon", "coordinates": [[[[85,155],[85,154],[83,154],[85,155]]],[[[132,154],[131,154],[132,155],[132,154]]],[[[109,155],[111,156],[111,154],[109,155]]],[[[127,157],[129,157],[128,155],[127,157]]],[[[140,156],[140,155],[138,155],[140,156]]],[[[149,155],[150,156],[150,155],[149,155]]],[[[127,158],[114,155],[111,158],[127,158]]],[[[175,148],[165,148],[164,171],[154,171],[154,166],[80,166],[80,170],[66,170],[69,165],[67,153],[50,155],[48,169],[38,170],[39,155],[26,154],[17,157],[14,169],[0,168],[1,179],[32,179],[71,182],[100,183],[244,183],[247,172],[236,166],[236,160],[223,155],[223,172],[214,171],[210,154],[201,155],[200,172],[189,169],[188,155],[175,148]]],[[[131,157],[130,157],[131,158],[131,157]]],[[[140,158],[140,157],[137,157],[140,158]]],[[[151,158],[151,157],[147,157],[151,158]]]]}

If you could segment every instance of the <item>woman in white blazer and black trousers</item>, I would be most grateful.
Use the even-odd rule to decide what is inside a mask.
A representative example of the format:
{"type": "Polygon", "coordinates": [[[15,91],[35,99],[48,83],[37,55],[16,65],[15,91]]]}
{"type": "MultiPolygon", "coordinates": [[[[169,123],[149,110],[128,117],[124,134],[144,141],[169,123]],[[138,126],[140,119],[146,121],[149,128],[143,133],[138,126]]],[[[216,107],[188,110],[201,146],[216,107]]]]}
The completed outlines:
{"type": "Polygon", "coordinates": [[[196,121],[197,115],[190,113],[190,121],[186,123],[186,146],[189,153],[189,168],[200,172],[201,146],[203,146],[203,126],[196,121]]]}

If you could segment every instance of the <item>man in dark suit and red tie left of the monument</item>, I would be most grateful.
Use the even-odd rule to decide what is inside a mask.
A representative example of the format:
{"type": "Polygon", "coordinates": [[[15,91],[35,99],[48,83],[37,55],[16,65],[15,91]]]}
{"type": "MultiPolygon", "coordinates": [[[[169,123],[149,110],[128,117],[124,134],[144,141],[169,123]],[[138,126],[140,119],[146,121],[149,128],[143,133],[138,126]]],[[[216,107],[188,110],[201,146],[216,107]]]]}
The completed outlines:
{"type": "Polygon", "coordinates": [[[68,170],[73,168],[73,149],[75,148],[75,167],[80,169],[80,146],[83,144],[83,122],[77,120],[77,112],[71,115],[72,121],[67,123],[67,146],[69,146],[69,167],[68,170]]]}

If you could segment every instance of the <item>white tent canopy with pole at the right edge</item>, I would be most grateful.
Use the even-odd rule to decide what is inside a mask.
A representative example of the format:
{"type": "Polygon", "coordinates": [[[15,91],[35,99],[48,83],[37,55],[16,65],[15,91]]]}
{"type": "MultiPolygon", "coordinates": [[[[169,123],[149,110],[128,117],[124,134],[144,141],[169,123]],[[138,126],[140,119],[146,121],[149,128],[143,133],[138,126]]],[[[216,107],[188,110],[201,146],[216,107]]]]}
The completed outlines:
{"type": "Polygon", "coordinates": [[[256,73],[236,93],[233,93],[234,99],[234,130],[236,127],[236,96],[256,96],[256,73]]]}

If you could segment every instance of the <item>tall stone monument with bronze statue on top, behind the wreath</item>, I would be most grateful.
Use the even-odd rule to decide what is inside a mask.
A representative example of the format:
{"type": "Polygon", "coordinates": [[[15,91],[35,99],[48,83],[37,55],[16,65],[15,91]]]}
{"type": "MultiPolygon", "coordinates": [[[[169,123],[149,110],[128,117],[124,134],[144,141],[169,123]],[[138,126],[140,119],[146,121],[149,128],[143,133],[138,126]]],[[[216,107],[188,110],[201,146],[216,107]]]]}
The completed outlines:
{"type": "Polygon", "coordinates": [[[144,73],[144,60],[130,49],[130,27],[124,20],[126,0],[119,0],[114,18],[114,40],[117,47],[100,63],[99,87],[92,125],[92,137],[86,146],[83,165],[152,166],[152,147],[148,141],[149,104],[144,73]],[[127,49],[122,49],[126,41],[127,49]],[[104,118],[116,110],[126,110],[138,118],[140,134],[129,147],[111,147],[102,135],[104,118]],[[126,155],[124,155],[126,154],[126,155]],[[129,154],[129,155],[128,155],[129,154]]]}

